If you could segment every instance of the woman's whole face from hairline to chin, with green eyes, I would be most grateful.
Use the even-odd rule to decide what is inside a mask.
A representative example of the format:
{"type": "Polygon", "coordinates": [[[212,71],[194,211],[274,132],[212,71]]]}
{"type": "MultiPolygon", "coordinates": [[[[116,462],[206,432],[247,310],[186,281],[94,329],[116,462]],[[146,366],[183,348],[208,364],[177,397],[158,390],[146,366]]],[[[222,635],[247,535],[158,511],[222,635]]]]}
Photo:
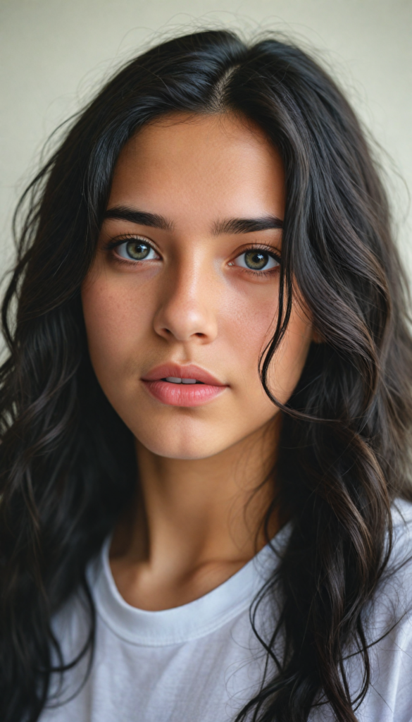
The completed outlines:
{"type": "MultiPolygon", "coordinates": [[[[245,120],[170,116],[123,149],[82,300],[100,385],[150,451],[205,458],[279,413],[258,361],[278,312],[283,217],[281,159],[245,120]]],[[[281,401],[311,336],[295,300],[269,375],[281,401]]]]}

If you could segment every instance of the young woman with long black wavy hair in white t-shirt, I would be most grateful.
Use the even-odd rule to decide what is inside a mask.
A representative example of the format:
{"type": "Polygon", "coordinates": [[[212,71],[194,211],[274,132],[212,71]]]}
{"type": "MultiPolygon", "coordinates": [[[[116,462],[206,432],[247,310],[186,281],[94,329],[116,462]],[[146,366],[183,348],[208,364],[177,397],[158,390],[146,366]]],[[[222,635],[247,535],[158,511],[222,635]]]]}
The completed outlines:
{"type": "Polygon", "coordinates": [[[2,722],[410,720],[406,280],[330,77],[159,45],[19,212],[2,722]]]}

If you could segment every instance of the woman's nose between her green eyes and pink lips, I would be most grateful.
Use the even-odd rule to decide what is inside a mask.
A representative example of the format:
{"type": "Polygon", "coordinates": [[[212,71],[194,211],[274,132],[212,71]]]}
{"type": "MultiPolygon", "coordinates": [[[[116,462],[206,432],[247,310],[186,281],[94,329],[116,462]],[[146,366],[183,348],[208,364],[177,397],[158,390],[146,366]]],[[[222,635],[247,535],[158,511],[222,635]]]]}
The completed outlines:
{"type": "Polygon", "coordinates": [[[162,279],[154,330],[165,339],[207,344],[217,335],[216,281],[206,261],[188,259],[162,279]]]}

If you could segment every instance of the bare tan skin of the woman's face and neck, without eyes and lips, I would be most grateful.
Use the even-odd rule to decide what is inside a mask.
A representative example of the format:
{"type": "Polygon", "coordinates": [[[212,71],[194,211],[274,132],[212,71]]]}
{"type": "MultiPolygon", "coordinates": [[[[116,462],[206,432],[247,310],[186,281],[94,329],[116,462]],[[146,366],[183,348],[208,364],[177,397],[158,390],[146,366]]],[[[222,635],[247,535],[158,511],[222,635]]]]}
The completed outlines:
{"type": "MultiPolygon", "coordinates": [[[[245,119],[162,118],[120,155],[108,209],[120,206],[162,216],[167,227],[105,219],[82,289],[92,365],[136,438],[139,465],[136,504],[118,523],[110,564],[129,604],[165,609],[210,591],[264,543],[273,475],[262,482],[281,419],[258,360],[276,322],[279,266],[255,273],[240,264],[257,244],[279,256],[281,230],[240,233],[224,222],[283,218],[281,159],[245,119]],[[147,260],[121,257],[136,235],[154,247],[147,260]],[[123,246],[108,247],[115,240],[123,246]],[[224,388],[193,408],[162,403],[142,379],[165,362],[196,364],[224,388]]],[[[311,340],[296,300],[271,368],[281,401],[311,340]]]]}

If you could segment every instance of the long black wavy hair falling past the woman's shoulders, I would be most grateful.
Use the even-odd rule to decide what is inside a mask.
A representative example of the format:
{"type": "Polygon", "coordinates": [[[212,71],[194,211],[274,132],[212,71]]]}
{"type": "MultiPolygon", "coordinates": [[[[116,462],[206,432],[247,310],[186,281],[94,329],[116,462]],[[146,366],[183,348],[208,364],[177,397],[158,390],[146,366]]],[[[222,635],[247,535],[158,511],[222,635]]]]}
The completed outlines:
{"type": "Polygon", "coordinates": [[[17,209],[0,370],[3,722],[35,722],[53,675],[76,664],[63,660],[51,619],[79,589],[90,615],[79,656],[93,646],[85,569],[133,495],[136,460],[89,361],[80,287],[120,150],[144,123],[178,111],[247,116],[284,162],[279,319],[260,360],[269,396],[294,293],[320,340],[281,406],[273,505],[292,534],[265,590],[280,605],[262,639],[271,664],[237,721],[304,722],[323,701],[339,722],[354,721],[369,686],[362,610],[387,564],[390,503],[411,496],[412,342],[387,198],[354,112],[315,61],[276,38],[248,46],[213,30],[162,43],[118,72],[17,209]],[[353,645],[364,666],[356,700],[344,664],[353,645]]]}

